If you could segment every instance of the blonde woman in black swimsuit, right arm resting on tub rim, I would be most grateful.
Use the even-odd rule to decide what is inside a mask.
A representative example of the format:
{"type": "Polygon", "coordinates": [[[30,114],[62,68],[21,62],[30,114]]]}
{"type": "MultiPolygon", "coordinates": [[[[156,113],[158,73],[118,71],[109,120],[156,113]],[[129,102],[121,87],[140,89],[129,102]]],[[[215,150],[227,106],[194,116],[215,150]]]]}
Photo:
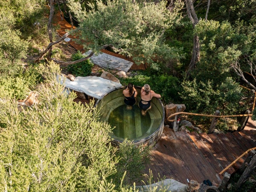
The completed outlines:
{"type": "Polygon", "coordinates": [[[155,93],[153,90],[150,89],[148,84],[144,84],[144,86],[140,90],[140,102],[139,107],[142,109],[141,113],[143,116],[146,115],[147,111],[151,109],[151,99],[153,97],[161,98],[160,94],[155,93]]]}

